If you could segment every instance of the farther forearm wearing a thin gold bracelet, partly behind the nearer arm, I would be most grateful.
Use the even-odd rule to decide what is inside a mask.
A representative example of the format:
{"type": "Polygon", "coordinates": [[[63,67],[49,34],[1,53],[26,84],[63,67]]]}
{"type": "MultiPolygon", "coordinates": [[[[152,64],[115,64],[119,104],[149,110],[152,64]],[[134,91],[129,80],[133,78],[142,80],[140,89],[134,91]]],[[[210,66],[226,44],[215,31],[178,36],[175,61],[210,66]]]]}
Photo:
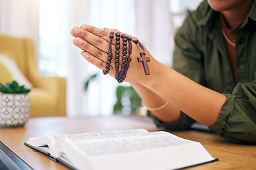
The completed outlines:
{"type": "MultiPolygon", "coordinates": [[[[137,94],[139,94],[139,96],[142,98],[142,101],[146,103],[146,106],[149,106],[149,108],[158,108],[166,103],[166,99],[162,98],[153,91],[146,89],[146,87],[142,86],[141,84],[134,83],[131,85],[135,91],[137,91],[137,94]]],[[[178,119],[181,112],[178,108],[176,108],[176,106],[169,103],[169,105],[165,108],[159,111],[151,111],[151,113],[154,114],[156,118],[159,118],[164,122],[173,122],[174,120],[178,119]]]]}

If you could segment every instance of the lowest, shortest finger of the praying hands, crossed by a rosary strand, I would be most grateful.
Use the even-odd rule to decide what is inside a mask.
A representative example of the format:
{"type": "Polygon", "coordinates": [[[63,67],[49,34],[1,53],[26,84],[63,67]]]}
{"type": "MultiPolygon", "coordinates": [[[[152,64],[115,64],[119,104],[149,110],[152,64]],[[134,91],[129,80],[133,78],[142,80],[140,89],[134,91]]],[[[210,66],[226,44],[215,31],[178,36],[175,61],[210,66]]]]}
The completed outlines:
{"type": "MultiPolygon", "coordinates": [[[[99,58],[95,57],[94,55],[90,54],[89,52],[82,51],[81,55],[82,55],[82,57],[85,58],[85,60],[94,64],[99,69],[101,69],[101,70],[105,69],[106,64],[107,64],[105,61],[100,60],[99,58]]],[[[114,77],[115,71],[112,66],[110,66],[109,74],[110,74],[110,76],[114,77]]]]}

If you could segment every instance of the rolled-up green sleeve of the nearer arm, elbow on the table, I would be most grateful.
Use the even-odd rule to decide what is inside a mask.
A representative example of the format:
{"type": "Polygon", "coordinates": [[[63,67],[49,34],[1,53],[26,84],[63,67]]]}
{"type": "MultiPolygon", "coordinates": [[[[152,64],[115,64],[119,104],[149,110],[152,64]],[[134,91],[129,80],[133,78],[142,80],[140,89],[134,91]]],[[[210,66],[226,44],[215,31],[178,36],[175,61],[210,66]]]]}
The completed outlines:
{"type": "Polygon", "coordinates": [[[230,142],[256,144],[256,81],[238,84],[226,96],[217,122],[209,129],[230,142]]]}

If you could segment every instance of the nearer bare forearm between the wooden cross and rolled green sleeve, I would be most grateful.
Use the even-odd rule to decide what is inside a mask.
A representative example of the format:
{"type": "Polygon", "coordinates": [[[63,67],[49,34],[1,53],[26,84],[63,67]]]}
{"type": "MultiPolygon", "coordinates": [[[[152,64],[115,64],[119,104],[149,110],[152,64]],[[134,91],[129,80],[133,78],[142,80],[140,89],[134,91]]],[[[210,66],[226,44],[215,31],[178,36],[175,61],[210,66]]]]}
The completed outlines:
{"type": "Polygon", "coordinates": [[[213,125],[226,97],[207,89],[169,67],[152,61],[151,75],[140,82],[162,96],[183,113],[205,125],[213,125]]]}

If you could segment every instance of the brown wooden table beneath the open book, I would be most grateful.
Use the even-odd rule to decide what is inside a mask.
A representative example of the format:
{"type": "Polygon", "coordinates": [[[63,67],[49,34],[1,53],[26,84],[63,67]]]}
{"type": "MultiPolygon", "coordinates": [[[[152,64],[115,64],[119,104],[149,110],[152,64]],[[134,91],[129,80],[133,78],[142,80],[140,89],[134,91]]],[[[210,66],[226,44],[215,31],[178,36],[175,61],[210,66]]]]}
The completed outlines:
{"type": "MultiPolygon", "coordinates": [[[[61,135],[78,132],[99,132],[106,130],[127,130],[144,128],[159,130],[149,119],[123,116],[97,118],[31,118],[23,128],[0,128],[0,141],[33,169],[67,169],[53,162],[46,155],[26,147],[29,137],[61,135]]],[[[189,169],[256,169],[256,146],[235,145],[222,137],[193,130],[171,132],[178,137],[201,142],[218,162],[194,166],[189,169]]]]}

